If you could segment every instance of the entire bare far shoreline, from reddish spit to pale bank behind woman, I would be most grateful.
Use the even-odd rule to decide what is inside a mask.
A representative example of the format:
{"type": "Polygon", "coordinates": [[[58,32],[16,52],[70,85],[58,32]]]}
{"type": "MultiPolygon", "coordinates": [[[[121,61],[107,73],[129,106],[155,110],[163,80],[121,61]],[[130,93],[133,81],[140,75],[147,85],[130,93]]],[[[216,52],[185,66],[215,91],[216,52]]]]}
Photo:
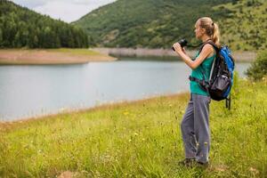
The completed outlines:
{"type": "MultiPolygon", "coordinates": [[[[197,51],[187,51],[194,57],[197,51]]],[[[0,49],[0,65],[82,64],[90,61],[117,61],[121,57],[181,60],[172,50],[146,48],[85,48],[85,49],[0,49]]],[[[237,62],[255,61],[255,52],[233,52],[237,62]]],[[[158,59],[152,59],[158,61],[158,59]]]]}

